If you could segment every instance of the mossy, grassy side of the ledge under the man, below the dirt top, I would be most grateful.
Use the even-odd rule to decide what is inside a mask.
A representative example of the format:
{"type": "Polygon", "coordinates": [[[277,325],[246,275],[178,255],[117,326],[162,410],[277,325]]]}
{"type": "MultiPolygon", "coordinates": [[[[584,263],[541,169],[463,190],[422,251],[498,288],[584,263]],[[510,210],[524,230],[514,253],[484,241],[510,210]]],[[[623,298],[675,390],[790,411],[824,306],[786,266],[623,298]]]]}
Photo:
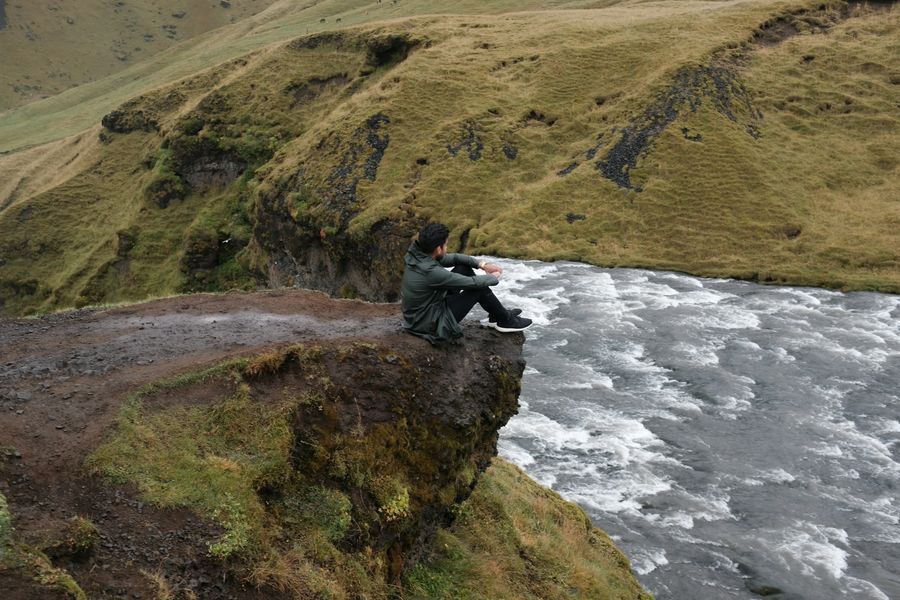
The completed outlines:
{"type": "Polygon", "coordinates": [[[430,553],[517,410],[523,338],[468,333],[293,346],[151,386],[88,463],[215,521],[210,552],[258,586],[380,597],[430,553]]]}

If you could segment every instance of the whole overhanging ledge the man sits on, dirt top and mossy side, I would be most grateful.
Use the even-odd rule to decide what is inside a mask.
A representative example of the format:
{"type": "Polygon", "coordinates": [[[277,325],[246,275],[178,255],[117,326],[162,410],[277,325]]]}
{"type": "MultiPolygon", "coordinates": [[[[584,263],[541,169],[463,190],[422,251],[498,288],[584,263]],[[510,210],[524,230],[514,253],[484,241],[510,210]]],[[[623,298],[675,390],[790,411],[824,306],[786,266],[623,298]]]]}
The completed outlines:
{"type": "Polygon", "coordinates": [[[288,597],[266,561],[318,539],[387,589],[496,454],[523,341],[474,325],[433,347],[396,305],[305,291],[2,321],[16,418],[0,423],[0,493],[19,558],[0,580],[41,597],[14,585],[40,564],[88,597],[140,595],[148,573],[203,598],[288,597]]]}

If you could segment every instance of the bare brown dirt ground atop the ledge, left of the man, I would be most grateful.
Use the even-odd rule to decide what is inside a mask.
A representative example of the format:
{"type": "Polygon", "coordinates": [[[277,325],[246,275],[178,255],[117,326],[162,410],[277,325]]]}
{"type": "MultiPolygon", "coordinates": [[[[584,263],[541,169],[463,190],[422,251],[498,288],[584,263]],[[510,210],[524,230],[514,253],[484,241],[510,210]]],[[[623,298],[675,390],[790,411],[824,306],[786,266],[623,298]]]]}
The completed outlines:
{"type": "MultiPolygon", "coordinates": [[[[219,533],[214,526],[105,486],[85,473],[84,459],[122,400],[143,384],[263,348],[395,335],[426,344],[402,334],[397,304],[305,290],[175,297],[0,320],[0,492],[17,537],[59,539],[71,517],[91,519],[100,539],[90,555],[56,561],[90,598],[157,597],[142,571],[164,572],[200,598],[280,597],[222,575],[207,556],[219,533]]],[[[0,590],[4,600],[48,597],[2,572],[0,590]]]]}

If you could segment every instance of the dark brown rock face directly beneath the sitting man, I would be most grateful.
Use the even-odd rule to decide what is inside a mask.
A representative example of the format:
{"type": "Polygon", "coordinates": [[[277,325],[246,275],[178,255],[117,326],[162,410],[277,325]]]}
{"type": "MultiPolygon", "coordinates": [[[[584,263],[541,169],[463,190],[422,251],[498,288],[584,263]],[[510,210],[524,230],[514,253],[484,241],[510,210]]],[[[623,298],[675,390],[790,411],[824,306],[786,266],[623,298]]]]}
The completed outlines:
{"type": "MultiPolygon", "coordinates": [[[[389,580],[428,551],[496,455],[518,408],[523,340],[467,329],[459,347],[403,339],[317,355],[320,377],[334,383],[326,401],[294,414],[296,468],[353,500],[357,527],[345,543],[385,552],[389,580]]],[[[300,394],[312,370],[288,360],[260,385],[300,394]]]]}

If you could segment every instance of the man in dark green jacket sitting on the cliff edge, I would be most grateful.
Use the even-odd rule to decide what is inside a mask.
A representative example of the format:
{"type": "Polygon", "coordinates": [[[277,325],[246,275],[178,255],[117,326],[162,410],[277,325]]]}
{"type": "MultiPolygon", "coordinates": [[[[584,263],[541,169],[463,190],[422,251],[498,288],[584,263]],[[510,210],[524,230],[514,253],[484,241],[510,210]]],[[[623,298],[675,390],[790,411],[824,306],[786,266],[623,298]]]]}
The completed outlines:
{"type": "Polygon", "coordinates": [[[522,331],[531,319],[519,316],[518,308],[507,310],[491,291],[500,283],[499,265],[479,262],[465,254],[448,254],[450,230],[442,223],[430,223],[406,252],[406,269],[400,286],[403,326],[432,344],[462,336],[459,322],[479,304],[497,331],[522,331]],[[453,267],[448,271],[444,267],[453,267]],[[485,275],[475,275],[482,269],[485,275]]]}

